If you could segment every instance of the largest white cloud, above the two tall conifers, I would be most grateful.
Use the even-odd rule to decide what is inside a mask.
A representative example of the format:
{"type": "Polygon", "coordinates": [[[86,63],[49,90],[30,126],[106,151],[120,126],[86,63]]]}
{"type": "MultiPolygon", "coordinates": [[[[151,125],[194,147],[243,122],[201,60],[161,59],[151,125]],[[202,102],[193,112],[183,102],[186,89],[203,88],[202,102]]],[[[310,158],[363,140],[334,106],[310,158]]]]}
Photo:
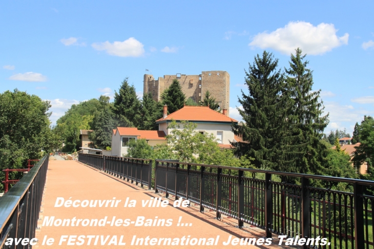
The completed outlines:
{"type": "Polygon", "coordinates": [[[294,53],[300,47],[309,55],[324,54],[333,48],[348,44],[349,34],[337,36],[334,24],[313,26],[306,22],[289,22],[284,28],[255,35],[249,44],[261,49],[272,48],[283,54],[294,53]]]}

